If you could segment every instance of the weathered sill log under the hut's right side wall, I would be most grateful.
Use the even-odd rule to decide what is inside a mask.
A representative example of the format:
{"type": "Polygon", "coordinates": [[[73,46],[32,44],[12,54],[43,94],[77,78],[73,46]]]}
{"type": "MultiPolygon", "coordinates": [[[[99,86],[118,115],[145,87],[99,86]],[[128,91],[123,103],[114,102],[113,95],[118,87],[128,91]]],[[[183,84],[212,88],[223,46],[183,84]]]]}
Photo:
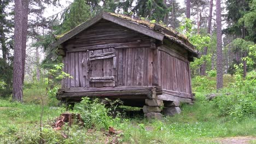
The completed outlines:
{"type": "Polygon", "coordinates": [[[156,95],[156,99],[166,100],[166,101],[181,101],[181,102],[184,102],[184,103],[192,103],[191,99],[177,97],[177,96],[166,94],[166,93],[156,95]]]}

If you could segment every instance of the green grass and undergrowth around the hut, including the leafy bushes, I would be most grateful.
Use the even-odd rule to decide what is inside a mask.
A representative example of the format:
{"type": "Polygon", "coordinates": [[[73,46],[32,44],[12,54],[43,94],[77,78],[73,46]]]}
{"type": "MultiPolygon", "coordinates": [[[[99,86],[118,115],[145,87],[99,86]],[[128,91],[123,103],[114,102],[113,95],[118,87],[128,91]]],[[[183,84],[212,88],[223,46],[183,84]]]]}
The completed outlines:
{"type": "Polygon", "coordinates": [[[24,104],[0,99],[0,143],[219,143],[216,140],[219,137],[256,137],[255,71],[248,73],[245,79],[239,75],[224,75],[225,87],[218,93],[214,88],[215,79],[214,71],[205,77],[194,77],[194,105],[182,104],[181,115],[161,120],[116,115],[113,111],[120,101],[109,101],[106,107],[100,100],[84,98],[69,112],[80,113],[85,127],[66,124],[61,130],[54,130],[51,124],[66,109],[50,107],[49,97],[43,98],[46,105],[42,137],[38,91],[44,91],[45,87],[27,86],[24,104]],[[207,100],[206,95],[211,93],[217,97],[207,100]],[[119,133],[109,135],[109,127],[119,133]]]}

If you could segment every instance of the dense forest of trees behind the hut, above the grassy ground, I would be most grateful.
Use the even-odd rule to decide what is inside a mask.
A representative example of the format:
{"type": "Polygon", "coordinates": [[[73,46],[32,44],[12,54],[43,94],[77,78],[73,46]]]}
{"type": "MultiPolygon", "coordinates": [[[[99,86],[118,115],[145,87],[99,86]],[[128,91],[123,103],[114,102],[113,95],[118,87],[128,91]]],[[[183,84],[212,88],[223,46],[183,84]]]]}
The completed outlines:
{"type": "MultiPolygon", "coordinates": [[[[55,52],[50,51],[50,44],[55,41],[55,36],[70,31],[101,11],[121,13],[163,23],[187,35],[196,49],[202,52],[202,58],[195,59],[195,62],[191,63],[193,77],[206,75],[208,71],[216,70],[217,75],[232,75],[238,67],[242,67],[243,76],[246,76],[247,71],[255,69],[253,54],[256,42],[256,1],[217,2],[222,3],[220,13],[216,11],[218,10],[216,1],[212,0],[184,2],[175,0],[75,0],[70,2],[68,7],[63,7],[61,1],[24,0],[21,3],[22,9],[20,9],[22,13],[18,13],[18,7],[14,8],[16,2],[1,1],[0,81],[4,90],[0,95],[9,97],[12,94],[13,82],[16,82],[16,79],[13,79],[13,68],[14,71],[18,71],[19,66],[19,69],[22,69],[22,83],[33,83],[47,77],[47,71],[53,68],[53,64],[61,63],[61,58],[57,57],[55,52]],[[56,8],[60,12],[44,17],[45,10],[51,8],[56,8]],[[23,36],[20,37],[21,40],[16,40],[17,45],[21,46],[21,64],[18,64],[18,61],[15,62],[15,55],[18,56],[19,52],[15,53],[14,46],[15,17],[18,17],[18,14],[25,17],[19,25],[23,36]],[[221,14],[221,23],[218,23],[218,14],[221,14]],[[185,17],[191,19],[185,19],[185,17]],[[219,39],[217,38],[218,27],[220,27],[219,39]],[[217,51],[217,47],[220,46],[219,50],[222,52],[217,51]],[[222,60],[218,63],[220,58],[222,60]]],[[[222,87],[220,83],[219,86],[222,87]]]]}

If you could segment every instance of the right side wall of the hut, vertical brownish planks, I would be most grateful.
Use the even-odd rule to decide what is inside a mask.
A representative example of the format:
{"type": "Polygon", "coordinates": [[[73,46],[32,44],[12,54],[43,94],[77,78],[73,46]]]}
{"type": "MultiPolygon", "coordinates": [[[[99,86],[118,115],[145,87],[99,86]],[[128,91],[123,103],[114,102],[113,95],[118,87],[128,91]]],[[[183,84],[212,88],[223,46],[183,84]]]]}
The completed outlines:
{"type": "Polygon", "coordinates": [[[159,46],[158,49],[160,86],[170,91],[187,93],[185,97],[190,97],[190,70],[187,55],[173,47],[159,46]]]}

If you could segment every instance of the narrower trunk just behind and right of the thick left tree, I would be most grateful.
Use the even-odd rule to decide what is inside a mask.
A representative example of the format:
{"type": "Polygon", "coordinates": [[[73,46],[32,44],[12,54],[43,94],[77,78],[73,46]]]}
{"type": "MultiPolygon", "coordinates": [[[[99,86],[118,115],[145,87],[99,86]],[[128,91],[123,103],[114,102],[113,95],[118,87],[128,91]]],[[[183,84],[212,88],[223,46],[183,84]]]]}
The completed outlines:
{"type": "Polygon", "coordinates": [[[25,76],[26,43],[27,43],[27,20],[28,20],[28,0],[22,0],[22,83],[25,76]]]}

